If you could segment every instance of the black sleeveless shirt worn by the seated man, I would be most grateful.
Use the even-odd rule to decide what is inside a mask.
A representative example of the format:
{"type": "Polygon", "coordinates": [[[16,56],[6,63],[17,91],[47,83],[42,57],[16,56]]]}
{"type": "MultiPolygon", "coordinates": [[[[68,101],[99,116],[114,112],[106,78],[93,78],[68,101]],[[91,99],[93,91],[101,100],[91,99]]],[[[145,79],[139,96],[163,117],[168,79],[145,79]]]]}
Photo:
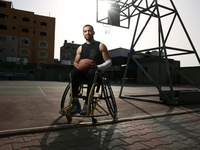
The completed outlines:
{"type": "Polygon", "coordinates": [[[97,65],[104,62],[103,56],[99,50],[100,42],[95,41],[92,44],[84,43],[81,50],[81,59],[91,59],[97,65]]]}

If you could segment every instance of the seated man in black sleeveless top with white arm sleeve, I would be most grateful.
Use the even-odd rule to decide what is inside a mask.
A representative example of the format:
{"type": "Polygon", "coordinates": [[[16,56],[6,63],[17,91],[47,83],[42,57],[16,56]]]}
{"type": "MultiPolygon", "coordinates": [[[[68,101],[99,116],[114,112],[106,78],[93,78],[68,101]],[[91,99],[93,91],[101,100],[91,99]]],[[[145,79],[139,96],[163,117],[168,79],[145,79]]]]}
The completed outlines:
{"type": "MultiPolygon", "coordinates": [[[[107,47],[98,41],[94,40],[94,29],[91,25],[85,25],[83,27],[83,36],[86,42],[79,46],[76,52],[74,60],[74,69],[71,71],[72,79],[72,108],[71,114],[80,113],[81,105],[78,100],[78,88],[82,81],[87,81],[87,97],[89,95],[91,86],[93,84],[93,78],[96,70],[105,70],[112,65],[110,55],[108,53],[107,47]],[[90,60],[90,67],[87,69],[81,68],[80,61],[83,59],[90,60]]],[[[84,103],[82,115],[86,115],[87,112],[87,100],[84,103]]]]}

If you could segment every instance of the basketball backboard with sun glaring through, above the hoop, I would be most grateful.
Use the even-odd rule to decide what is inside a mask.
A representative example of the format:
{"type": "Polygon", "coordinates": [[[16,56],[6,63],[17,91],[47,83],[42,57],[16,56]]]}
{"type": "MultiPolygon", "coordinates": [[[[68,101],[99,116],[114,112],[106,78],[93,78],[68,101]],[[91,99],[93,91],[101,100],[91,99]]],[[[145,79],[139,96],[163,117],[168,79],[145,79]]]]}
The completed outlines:
{"type": "Polygon", "coordinates": [[[129,28],[129,8],[123,0],[97,0],[97,22],[129,28]]]}

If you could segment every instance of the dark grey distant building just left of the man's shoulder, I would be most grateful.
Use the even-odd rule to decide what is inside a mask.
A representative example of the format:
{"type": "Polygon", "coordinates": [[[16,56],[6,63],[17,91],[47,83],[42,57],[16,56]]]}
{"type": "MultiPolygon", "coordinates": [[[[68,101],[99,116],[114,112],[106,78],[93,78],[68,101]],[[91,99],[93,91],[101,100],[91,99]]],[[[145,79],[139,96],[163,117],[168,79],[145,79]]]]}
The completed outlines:
{"type": "Polygon", "coordinates": [[[60,48],[60,62],[65,65],[72,65],[76,56],[76,50],[80,44],[67,43],[64,41],[63,46],[60,48]]]}

